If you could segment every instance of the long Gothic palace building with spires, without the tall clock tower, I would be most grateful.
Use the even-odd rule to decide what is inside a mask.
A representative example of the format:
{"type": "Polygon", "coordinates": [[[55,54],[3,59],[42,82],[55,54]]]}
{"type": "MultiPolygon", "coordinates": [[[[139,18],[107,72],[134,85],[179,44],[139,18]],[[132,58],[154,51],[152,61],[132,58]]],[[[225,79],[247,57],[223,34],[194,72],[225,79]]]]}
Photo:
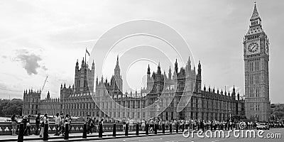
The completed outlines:
{"type": "Polygon", "coordinates": [[[160,107],[170,104],[169,106],[165,105],[165,110],[158,113],[165,120],[191,118],[222,121],[229,119],[230,114],[232,116],[244,115],[244,100],[239,99],[239,94],[236,97],[235,89],[233,89],[231,94],[226,91],[215,91],[214,88],[211,89],[210,87],[202,89],[201,64],[199,63],[196,74],[195,67],[191,68],[190,59],[186,67],[180,67],[180,70],[176,61],[173,75],[171,69],[169,69],[168,76],[165,75],[165,72],[161,73],[160,65],[158,65],[157,72],[153,72],[152,75],[150,67],[148,67],[147,87],[141,89],[141,92],[121,92],[123,80],[120,75],[119,58],[117,58],[111,81],[108,82],[103,78],[99,81],[97,78],[95,92],[91,92],[90,90],[92,89],[88,89],[87,87],[87,85],[91,87],[94,85],[87,83],[89,80],[92,80],[94,75],[87,75],[86,70],[93,74],[94,64],[92,65],[92,70],[90,70],[83,60],[81,69],[79,70],[78,62],[76,63],[75,84],[77,83],[77,85],[75,87],[74,85],[72,87],[66,87],[65,84],[64,86],[61,85],[60,98],[50,98],[50,94],[48,93],[45,99],[40,100],[40,93],[38,93],[37,99],[33,102],[31,101],[31,98],[33,98],[31,96],[32,92],[25,92],[23,114],[36,114],[39,112],[41,114],[48,113],[55,115],[58,112],[62,112],[77,117],[90,115],[97,119],[104,118],[106,121],[116,121],[123,118],[133,118],[136,121],[141,121],[142,119],[153,118],[157,115],[158,110],[155,108],[156,106],[146,110],[142,108],[151,106],[151,104],[159,99],[160,107]],[[85,80],[87,82],[82,83],[85,80]],[[178,82],[177,85],[173,83],[175,81],[178,82]],[[165,95],[160,97],[163,91],[165,95]],[[189,103],[185,104],[184,108],[182,107],[182,111],[178,112],[178,103],[182,101],[180,100],[182,93],[191,92],[192,97],[189,103]],[[116,107],[114,102],[104,99],[106,95],[110,95],[121,107],[116,107]],[[172,102],[170,102],[171,97],[173,97],[172,102]],[[96,102],[94,100],[99,101],[96,102]]]}

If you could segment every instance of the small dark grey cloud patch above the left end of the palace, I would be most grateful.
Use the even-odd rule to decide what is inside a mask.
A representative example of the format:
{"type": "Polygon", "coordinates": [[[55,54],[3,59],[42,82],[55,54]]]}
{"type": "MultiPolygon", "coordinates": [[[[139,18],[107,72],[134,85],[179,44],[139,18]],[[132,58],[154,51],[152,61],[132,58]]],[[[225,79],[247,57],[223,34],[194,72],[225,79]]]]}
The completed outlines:
{"type": "Polygon", "coordinates": [[[28,75],[37,75],[38,68],[42,68],[43,70],[48,70],[45,65],[40,66],[39,61],[42,60],[40,55],[35,55],[34,53],[30,53],[26,49],[21,49],[16,51],[18,55],[16,56],[15,60],[22,62],[23,68],[26,70],[28,75]]]}

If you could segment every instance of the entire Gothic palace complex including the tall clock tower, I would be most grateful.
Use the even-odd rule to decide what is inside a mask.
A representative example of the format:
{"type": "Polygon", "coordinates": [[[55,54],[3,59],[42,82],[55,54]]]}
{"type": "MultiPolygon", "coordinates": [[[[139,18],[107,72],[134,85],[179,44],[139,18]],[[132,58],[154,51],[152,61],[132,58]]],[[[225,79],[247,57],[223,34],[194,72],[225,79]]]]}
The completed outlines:
{"type": "Polygon", "coordinates": [[[110,82],[103,77],[101,80],[98,77],[94,80],[94,62],[89,68],[83,59],[81,67],[78,61],[75,65],[75,84],[72,87],[61,84],[60,98],[50,98],[48,92],[47,97],[42,99],[40,91],[25,90],[23,115],[38,113],[55,115],[62,112],[75,117],[90,115],[109,122],[124,118],[141,121],[157,116],[156,113],[159,110],[152,104],[159,100],[159,105],[164,109],[158,113],[158,116],[164,120],[226,121],[231,116],[246,116],[251,120],[268,121],[270,116],[269,40],[263,31],[256,4],[250,22],[249,31],[244,37],[245,99],[240,99],[235,88],[232,92],[226,92],[226,90],[223,92],[223,90],[205,86],[202,88],[201,64],[199,62],[196,72],[195,67],[191,67],[190,58],[185,67],[178,67],[176,60],[173,75],[171,68],[168,70],[168,75],[165,72],[162,73],[160,64],[157,71],[151,74],[148,66],[147,87],[140,92],[130,93],[122,92],[123,80],[120,75],[119,57],[117,57],[114,75],[110,82]],[[183,100],[182,94],[192,94],[192,96],[187,98],[189,100],[183,100]],[[106,96],[114,102],[105,99],[106,96]],[[184,103],[182,110],[177,111],[178,104],[182,101],[189,103],[184,103]]]}

